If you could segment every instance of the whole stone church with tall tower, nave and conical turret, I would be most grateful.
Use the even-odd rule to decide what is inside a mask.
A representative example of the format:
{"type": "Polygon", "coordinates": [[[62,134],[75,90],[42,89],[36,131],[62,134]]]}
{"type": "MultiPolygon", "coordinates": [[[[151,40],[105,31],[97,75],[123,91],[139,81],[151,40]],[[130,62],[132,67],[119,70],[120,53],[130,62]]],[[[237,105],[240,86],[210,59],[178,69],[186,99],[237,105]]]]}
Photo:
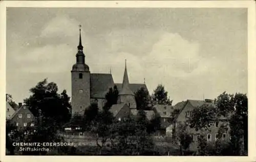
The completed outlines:
{"type": "Polygon", "coordinates": [[[102,109],[106,100],[105,95],[109,88],[115,85],[119,91],[117,104],[126,104],[130,108],[137,108],[135,93],[144,87],[145,83],[131,84],[126,68],[126,60],[122,83],[114,83],[112,74],[90,73],[89,65],[85,63],[85,55],[81,41],[81,29],[79,29],[79,44],[77,47],[76,63],[72,66],[71,71],[71,90],[72,90],[72,115],[83,114],[84,110],[91,103],[97,103],[99,109],[102,109]]]}

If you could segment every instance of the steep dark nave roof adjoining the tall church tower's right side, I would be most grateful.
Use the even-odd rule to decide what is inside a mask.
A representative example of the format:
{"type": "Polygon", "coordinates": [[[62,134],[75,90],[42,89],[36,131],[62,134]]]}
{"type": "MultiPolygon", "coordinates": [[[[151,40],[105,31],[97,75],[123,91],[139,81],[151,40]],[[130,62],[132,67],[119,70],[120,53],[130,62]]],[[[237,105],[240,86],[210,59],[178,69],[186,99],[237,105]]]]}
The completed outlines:
{"type": "Polygon", "coordinates": [[[114,81],[111,74],[91,74],[90,76],[90,95],[91,98],[105,98],[109,88],[114,87],[114,81]]]}

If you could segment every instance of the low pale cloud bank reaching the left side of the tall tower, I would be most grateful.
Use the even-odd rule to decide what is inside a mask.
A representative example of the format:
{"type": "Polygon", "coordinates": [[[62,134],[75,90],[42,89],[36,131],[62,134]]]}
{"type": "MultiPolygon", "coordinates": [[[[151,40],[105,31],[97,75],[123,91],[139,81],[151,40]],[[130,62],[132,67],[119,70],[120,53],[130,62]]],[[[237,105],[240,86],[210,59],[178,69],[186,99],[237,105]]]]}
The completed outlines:
{"type": "Polygon", "coordinates": [[[16,55],[14,61],[23,62],[20,72],[60,73],[71,70],[75,60],[72,53],[72,48],[67,44],[46,45],[28,50],[23,55],[16,55]]]}

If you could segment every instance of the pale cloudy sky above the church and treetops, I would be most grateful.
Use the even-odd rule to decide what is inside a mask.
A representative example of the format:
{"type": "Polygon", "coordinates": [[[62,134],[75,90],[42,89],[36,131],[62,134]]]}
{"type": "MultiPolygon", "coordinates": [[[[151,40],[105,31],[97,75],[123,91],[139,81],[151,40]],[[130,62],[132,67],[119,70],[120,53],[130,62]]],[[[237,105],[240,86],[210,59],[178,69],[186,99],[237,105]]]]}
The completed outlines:
{"type": "Polygon", "coordinates": [[[247,9],[8,8],[7,93],[23,102],[48,78],[71,96],[81,25],[91,73],[150,91],[162,84],[173,103],[246,93],[247,9]]]}

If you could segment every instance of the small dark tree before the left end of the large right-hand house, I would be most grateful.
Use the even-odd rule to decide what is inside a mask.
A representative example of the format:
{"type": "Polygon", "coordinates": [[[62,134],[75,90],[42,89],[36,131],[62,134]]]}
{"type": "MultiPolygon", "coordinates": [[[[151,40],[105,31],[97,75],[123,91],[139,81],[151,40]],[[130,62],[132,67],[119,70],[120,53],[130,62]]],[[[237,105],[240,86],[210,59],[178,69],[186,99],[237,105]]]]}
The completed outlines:
{"type": "Polygon", "coordinates": [[[193,142],[193,138],[190,137],[189,131],[185,123],[178,123],[176,129],[176,142],[180,145],[180,155],[184,155],[183,150],[187,150],[189,145],[193,142]]]}

